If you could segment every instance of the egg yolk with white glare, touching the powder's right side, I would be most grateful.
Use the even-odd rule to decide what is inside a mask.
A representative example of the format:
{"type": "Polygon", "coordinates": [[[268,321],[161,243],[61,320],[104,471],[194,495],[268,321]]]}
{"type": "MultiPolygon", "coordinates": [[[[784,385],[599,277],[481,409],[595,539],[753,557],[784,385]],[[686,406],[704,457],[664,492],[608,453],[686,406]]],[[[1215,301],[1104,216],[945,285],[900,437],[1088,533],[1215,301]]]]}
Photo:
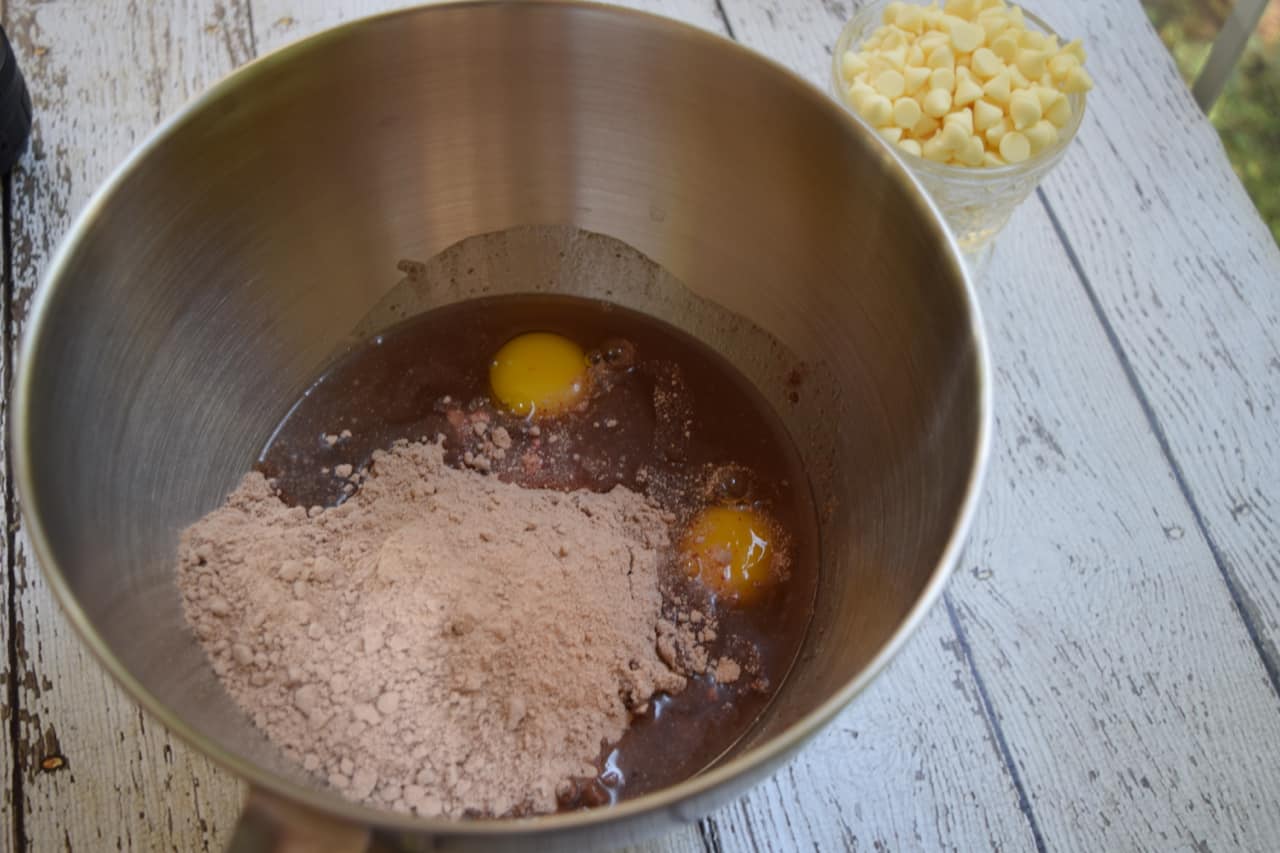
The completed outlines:
{"type": "Polygon", "coordinates": [[[748,507],[713,506],[680,543],[685,571],[717,596],[750,605],[773,583],[773,524],[748,507]]]}

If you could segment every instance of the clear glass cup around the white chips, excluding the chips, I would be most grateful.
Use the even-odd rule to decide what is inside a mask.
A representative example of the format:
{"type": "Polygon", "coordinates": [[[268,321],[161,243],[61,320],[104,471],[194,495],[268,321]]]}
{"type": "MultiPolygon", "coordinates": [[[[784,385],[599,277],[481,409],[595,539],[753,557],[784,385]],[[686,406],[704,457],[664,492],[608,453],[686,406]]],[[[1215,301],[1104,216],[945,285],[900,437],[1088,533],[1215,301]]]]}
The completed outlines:
{"type": "MultiPolygon", "coordinates": [[[[846,97],[847,85],[841,73],[841,58],[845,51],[856,50],[884,19],[888,0],[869,3],[858,12],[836,40],[831,64],[831,91],[849,113],[864,126],[873,128],[846,97]]],[[[916,4],[922,5],[922,4],[916,4]]],[[[1059,36],[1061,44],[1066,40],[1041,18],[1023,8],[1028,28],[1047,36],[1059,36]]],[[[960,248],[970,257],[978,256],[991,243],[992,238],[1005,227],[1014,210],[1039,184],[1048,172],[1062,160],[1068,146],[1080,129],[1084,119],[1085,96],[1068,95],[1071,104],[1071,119],[1059,132],[1057,142],[1036,156],[1018,164],[1004,167],[957,167],[934,163],[904,151],[886,141],[893,152],[910,167],[924,188],[938,205],[943,218],[955,233],[960,248]]]]}

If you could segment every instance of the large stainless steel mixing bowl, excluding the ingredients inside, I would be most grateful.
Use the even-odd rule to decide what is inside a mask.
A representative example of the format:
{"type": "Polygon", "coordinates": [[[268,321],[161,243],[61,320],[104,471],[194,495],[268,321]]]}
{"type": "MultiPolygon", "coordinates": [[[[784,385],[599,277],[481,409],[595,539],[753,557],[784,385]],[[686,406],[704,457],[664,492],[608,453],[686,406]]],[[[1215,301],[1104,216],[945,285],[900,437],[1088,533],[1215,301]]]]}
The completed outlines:
{"type": "Polygon", "coordinates": [[[581,845],[707,813],[868,684],[956,560],[988,420],[956,247],[838,105],[678,23],[481,3],[308,38],[152,134],[47,272],[18,364],[13,457],[36,553],[84,642],[264,795],[242,843],[324,815],[410,847],[581,845]],[[655,260],[689,298],[667,279],[589,287],[700,334],[774,401],[823,507],[813,629],[753,733],[673,788],[521,821],[348,803],[279,760],[221,692],[182,619],[175,534],[220,502],[399,282],[399,261],[525,224],[577,225],[655,260]]]}

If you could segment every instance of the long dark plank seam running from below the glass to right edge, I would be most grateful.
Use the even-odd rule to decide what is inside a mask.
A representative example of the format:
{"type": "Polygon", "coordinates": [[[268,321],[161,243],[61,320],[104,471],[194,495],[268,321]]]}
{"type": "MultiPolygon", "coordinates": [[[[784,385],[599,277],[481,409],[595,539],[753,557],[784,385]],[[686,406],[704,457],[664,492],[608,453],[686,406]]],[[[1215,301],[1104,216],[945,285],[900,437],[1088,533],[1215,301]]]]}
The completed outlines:
{"type": "Polygon", "coordinates": [[[1208,524],[1206,524],[1204,516],[1201,512],[1199,502],[1192,493],[1181,464],[1174,455],[1172,446],[1169,443],[1169,435],[1165,433],[1165,426],[1161,423],[1160,416],[1156,414],[1156,410],[1151,403],[1151,398],[1147,396],[1147,389],[1138,378],[1138,373],[1134,369],[1133,362],[1129,360],[1129,353],[1120,342],[1120,337],[1116,334],[1115,327],[1111,324],[1111,319],[1102,307],[1102,302],[1098,300],[1093,282],[1089,279],[1088,273],[1084,272],[1084,266],[1080,263],[1079,256],[1075,254],[1075,247],[1071,245],[1071,241],[1066,236],[1066,231],[1062,228],[1061,220],[1057,218],[1057,211],[1053,210],[1053,205],[1050,202],[1048,196],[1044,195],[1043,187],[1038,187],[1036,190],[1036,196],[1044,206],[1044,213],[1048,215],[1050,224],[1053,227],[1053,232],[1062,243],[1062,250],[1066,252],[1071,269],[1075,272],[1075,278],[1080,282],[1080,287],[1084,289],[1084,295],[1088,297],[1089,305],[1093,307],[1093,313],[1097,315],[1098,323],[1102,325],[1107,342],[1111,345],[1111,350],[1120,361],[1120,368],[1124,370],[1129,387],[1138,398],[1138,405],[1142,407],[1142,414],[1146,418],[1148,426],[1151,426],[1152,434],[1156,437],[1160,452],[1169,462],[1169,467],[1174,475],[1174,483],[1178,484],[1178,491],[1187,502],[1187,508],[1190,511],[1192,519],[1196,521],[1196,526],[1199,529],[1201,535],[1204,537],[1206,544],[1208,544],[1210,553],[1213,556],[1213,564],[1217,566],[1217,571],[1222,576],[1222,583],[1226,585],[1226,592],[1231,597],[1231,603],[1240,615],[1240,621],[1244,624],[1244,630],[1249,637],[1249,642],[1253,644],[1253,651],[1257,652],[1258,658],[1262,661],[1262,669],[1266,670],[1267,680],[1271,684],[1271,692],[1280,698],[1280,661],[1276,660],[1275,648],[1271,647],[1263,637],[1262,630],[1258,628],[1258,621],[1256,619],[1257,607],[1254,607],[1251,602],[1240,579],[1236,578],[1235,573],[1231,571],[1231,567],[1226,565],[1222,549],[1219,546],[1217,539],[1210,532],[1208,524]]]}

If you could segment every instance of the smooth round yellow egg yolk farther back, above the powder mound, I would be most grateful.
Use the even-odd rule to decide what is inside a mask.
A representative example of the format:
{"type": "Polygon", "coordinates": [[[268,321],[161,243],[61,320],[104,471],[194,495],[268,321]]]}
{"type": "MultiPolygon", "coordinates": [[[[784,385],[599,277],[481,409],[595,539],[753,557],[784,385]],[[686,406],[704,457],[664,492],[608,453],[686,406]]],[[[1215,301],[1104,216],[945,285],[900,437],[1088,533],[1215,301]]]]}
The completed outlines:
{"type": "Polygon", "coordinates": [[[586,353],[568,338],[531,332],[507,341],[489,364],[489,386],[520,416],[554,415],[586,392],[586,353]]]}

